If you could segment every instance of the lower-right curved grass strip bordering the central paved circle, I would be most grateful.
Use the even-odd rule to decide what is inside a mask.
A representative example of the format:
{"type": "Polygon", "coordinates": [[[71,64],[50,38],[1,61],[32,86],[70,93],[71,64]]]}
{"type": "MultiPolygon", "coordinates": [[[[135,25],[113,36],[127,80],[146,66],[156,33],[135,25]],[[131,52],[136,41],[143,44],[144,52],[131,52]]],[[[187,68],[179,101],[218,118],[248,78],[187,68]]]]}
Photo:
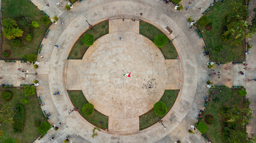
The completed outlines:
{"type": "MultiPolygon", "coordinates": [[[[167,106],[167,113],[173,106],[178,94],[179,90],[166,90],[164,92],[164,95],[162,95],[162,98],[159,100],[161,102],[164,102],[164,104],[167,106]]],[[[158,116],[155,114],[152,108],[147,113],[140,116],[140,130],[149,128],[157,122],[158,116]]]]}

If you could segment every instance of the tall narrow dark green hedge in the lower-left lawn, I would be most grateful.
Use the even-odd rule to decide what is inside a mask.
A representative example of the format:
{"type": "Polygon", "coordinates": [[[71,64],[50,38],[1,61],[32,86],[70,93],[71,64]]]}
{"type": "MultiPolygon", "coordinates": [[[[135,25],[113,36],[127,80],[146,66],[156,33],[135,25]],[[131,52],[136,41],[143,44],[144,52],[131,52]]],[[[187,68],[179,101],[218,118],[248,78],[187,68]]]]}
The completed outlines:
{"type": "Polygon", "coordinates": [[[22,104],[16,105],[16,114],[13,116],[13,132],[20,133],[23,130],[25,119],[25,108],[22,104]]]}

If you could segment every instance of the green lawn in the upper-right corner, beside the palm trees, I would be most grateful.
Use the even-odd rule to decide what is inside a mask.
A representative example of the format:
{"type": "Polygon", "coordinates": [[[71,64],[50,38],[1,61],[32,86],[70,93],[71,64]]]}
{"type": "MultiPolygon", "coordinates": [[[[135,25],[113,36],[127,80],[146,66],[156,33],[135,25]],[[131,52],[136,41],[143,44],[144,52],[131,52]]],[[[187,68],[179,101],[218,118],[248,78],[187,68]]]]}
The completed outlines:
{"type": "Polygon", "coordinates": [[[206,17],[212,23],[212,30],[207,31],[204,27],[199,27],[208,46],[210,58],[213,61],[237,61],[245,58],[243,45],[230,45],[230,42],[224,42],[221,39],[224,13],[233,11],[231,5],[233,1],[242,2],[242,0],[225,0],[222,4],[216,4],[206,14],[206,17]],[[215,51],[215,46],[222,46],[221,51],[215,51]]]}

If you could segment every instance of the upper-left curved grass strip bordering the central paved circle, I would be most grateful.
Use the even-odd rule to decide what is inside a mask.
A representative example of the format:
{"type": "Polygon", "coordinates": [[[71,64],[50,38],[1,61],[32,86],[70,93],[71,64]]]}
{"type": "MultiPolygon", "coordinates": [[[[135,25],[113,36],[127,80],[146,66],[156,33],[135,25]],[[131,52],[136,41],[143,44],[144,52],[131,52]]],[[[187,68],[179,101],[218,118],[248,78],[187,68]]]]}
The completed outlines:
{"type": "Polygon", "coordinates": [[[85,43],[83,43],[83,35],[92,34],[94,35],[94,41],[96,41],[98,38],[108,33],[109,33],[109,21],[107,20],[102,21],[101,23],[98,23],[97,25],[93,26],[92,29],[87,30],[85,33],[83,33],[80,36],[80,38],[77,40],[77,42],[71,49],[70,55],[68,55],[68,59],[83,58],[83,55],[85,54],[86,50],[89,48],[89,46],[86,46],[85,43]]]}

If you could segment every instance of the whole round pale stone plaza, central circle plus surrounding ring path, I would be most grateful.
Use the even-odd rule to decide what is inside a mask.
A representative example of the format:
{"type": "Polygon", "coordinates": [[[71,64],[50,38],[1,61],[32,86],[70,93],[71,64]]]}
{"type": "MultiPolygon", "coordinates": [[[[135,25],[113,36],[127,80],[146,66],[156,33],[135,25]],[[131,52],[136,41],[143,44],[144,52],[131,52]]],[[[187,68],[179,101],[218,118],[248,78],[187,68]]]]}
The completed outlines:
{"type": "Polygon", "coordinates": [[[182,0],[184,7],[189,5],[182,11],[161,0],[83,0],[70,11],[65,10],[64,0],[32,2],[50,17],[59,17],[41,43],[35,72],[40,83],[37,94],[45,103],[41,108],[50,112],[51,125],[61,122],[61,126],[35,142],[50,142],[53,136],[51,142],[63,142],[66,136],[72,142],[205,142],[200,133],[188,132],[197,122],[198,109],[203,108],[207,94],[207,76],[203,75],[207,75],[209,60],[202,54],[203,39],[189,29],[188,17],[200,18],[211,1],[182,0]],[[109,33],[95,40],[82,59],[68,58],[77,40],[89,30],[88,24],[106,20],[109,33]],[[165,58],[152,40],[140,34],[140,21],[173,39],[176,59],[165,58]],[[124,76],[127,73],[130,77],[124,76]],[[178,94],[162,124],[140,129],[140,116],[152,110],[166,90],[178,94]],[[58,91],[60,95],[53,95],[58,91]],[[107,129],[96,130],[98,135],[92,138],[95,124],[78,111],[67,114],[76,108],[69,91],[82,91],[108,119],[107,129]]]}

